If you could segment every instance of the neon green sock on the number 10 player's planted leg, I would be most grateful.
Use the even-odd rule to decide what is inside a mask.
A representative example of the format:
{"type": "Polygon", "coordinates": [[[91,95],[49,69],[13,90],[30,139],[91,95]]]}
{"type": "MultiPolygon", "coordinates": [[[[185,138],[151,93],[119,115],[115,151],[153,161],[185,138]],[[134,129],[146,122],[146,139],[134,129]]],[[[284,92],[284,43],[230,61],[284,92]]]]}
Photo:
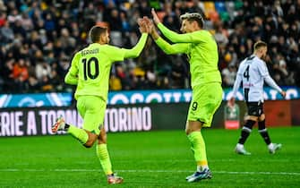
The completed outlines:
{"type": "Polygon", "coordinates": [[[113,174],[111,162],[107,150],[107,144],[106,143],[98,144],[96,147],[96,153],[101,163],[101,166],[103,168],[103,171],[106,173],[106,175],[113,174]]]}

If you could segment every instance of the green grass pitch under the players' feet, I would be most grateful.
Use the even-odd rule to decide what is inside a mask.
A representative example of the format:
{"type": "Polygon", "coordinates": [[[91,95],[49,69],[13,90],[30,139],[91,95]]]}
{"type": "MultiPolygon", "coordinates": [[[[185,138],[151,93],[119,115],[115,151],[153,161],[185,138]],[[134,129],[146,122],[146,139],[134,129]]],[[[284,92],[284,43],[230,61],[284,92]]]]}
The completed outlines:
{"type": "Polygon", "coordinates": [[[0,138],[0,187],[300,187],[300,127],[270,128],[282,150],[270,155],[254,129],[234,153],[240,130],[205,129],[213,178],[188,184],[195,170],[184,131],[108,133],[113,167],[124,184],[107,185],[95,148],[70,135],[0,138]]]}

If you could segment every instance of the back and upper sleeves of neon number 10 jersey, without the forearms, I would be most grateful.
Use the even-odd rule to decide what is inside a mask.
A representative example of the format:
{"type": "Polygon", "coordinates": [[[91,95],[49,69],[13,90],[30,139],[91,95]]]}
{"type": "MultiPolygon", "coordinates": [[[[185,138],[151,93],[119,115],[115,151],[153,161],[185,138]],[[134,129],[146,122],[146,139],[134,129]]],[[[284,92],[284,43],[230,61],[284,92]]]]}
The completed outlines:
{"type": "Polygon", "coordinates": [[[73,58],[78,67],[78,85],[75,98],[82,95],[99,96],[107,100],[111,64],[124,60],[121,48],[98,43],[90,44],[73,58]]]}

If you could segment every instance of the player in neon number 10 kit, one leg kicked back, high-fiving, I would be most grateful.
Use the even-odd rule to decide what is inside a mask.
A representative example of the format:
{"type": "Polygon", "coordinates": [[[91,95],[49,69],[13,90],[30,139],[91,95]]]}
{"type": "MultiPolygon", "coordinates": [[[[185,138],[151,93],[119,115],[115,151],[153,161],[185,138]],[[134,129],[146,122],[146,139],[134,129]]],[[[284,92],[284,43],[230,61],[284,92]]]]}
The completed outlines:
{"type": "Polygon", "coordinates": [[[141,54],[145,46],[149,27],[138,21],[141,38],[135,47],[125,49],[108,45],[107,28],[94,26],[90,29],[91,44],[73,56],[71,67],[64,81],[77,85],[75,99],[77,109],[83,118],[82,129],[73,124],[64,123],[59,117],[52,127],[52,132],[66,131],[79,140],[83,146],[90,148],[98,141],[96,153],[100,164],[107,174],[108,184],[121,184],[123,178],[113,173],[107,151],[107,133],[103,122],[107,107],[108,79],[114,62],[124,61],[124,58],[134,58],[141,54]]]}

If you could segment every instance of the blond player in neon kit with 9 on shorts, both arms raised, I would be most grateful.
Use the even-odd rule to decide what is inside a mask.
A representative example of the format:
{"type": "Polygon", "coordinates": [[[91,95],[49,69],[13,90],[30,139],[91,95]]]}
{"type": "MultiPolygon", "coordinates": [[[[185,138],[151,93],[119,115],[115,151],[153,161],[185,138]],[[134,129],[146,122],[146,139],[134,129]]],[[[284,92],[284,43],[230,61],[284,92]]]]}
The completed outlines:
{"type": "Polygon", "coordinates": [[[153,20],[160,32],[174,44],[167,43],[155,30],[153,23],[144,18],[151,27],[151,36],[157,45],[167,54],[186,54],[189,58],[192,77],[193,98],[189,107],[185,132],[191,142],[197,170],[186,177],[188,182],[211,178],[205,143],[201,135],[202,127],[210,127],[212,117],[218,109],[223,90],[218,69],[218,47],[214,37],[208,30],[203,30],[203,19],[199,13],[181,15],[181,31],[178,34],[168,30],[152,9],[153,20]]]}

